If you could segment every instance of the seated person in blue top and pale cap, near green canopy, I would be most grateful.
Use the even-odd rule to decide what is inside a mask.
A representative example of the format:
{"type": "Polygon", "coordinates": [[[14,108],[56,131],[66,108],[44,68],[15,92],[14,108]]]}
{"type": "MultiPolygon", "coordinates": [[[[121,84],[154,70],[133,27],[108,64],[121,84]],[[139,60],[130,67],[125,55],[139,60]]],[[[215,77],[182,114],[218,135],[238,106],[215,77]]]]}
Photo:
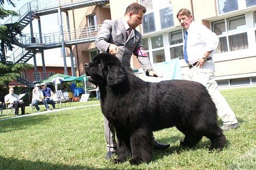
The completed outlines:
{"type": "Polygon", "coordinates": [[[44,95],[43,103],[47,111],[50,110],[50,107],[48,104],[52,104],[53,109],[55,109],[55,102],[52,100],[51,96],[53,95],[53,92],[51,88],[46,87],[45,83],[41,84],[42,92],[44,95]]]}

